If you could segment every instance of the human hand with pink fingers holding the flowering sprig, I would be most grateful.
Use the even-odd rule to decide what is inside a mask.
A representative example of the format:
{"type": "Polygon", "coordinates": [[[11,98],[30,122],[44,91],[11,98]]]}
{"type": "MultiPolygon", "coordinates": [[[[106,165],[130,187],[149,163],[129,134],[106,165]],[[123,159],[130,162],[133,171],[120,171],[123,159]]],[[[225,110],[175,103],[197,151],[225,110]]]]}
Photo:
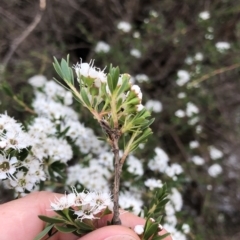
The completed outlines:
{"type": "MultiPolygon", "coordinates": [[[[60,194],[50,192],[35,192],[28,196],[0,205],[1,240],[32,240],[44,228],[45,223],[38,215],[52,217],[54,211],[49,211],[51,201],[60,194]]],[[[131,213],[124,212],[120,216],[122,225],[104,226],[111,216],[99,220],[101,227],[81,238],[73,234],[58,232],[51,240],[139,240],[138,235],[131,230],[136,225],[144,225],[145,220],[131,213]]],[[[165,234],[163,229],[161,235],[165,234]]],[[[172,240],[170,236],[165,240],[172,240]]]]}

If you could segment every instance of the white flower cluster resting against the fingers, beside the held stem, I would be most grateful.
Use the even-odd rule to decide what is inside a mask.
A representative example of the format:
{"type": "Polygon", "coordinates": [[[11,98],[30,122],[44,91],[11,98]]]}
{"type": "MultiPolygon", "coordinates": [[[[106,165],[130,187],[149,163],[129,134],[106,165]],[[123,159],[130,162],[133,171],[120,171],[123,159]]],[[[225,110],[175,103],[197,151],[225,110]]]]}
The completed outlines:
{"type": "Polygon", "coordinates": [[[65,194],[60,198],[56,198],[51,203],[51,209],[54,211],[72,208],[77,218],[82,221],[84,219],[98,219],[99,214],[105,209],[112,211],[113,202],[111,195],[104,192],[80,192],[73,189],[73,193],[65,194]]]}

